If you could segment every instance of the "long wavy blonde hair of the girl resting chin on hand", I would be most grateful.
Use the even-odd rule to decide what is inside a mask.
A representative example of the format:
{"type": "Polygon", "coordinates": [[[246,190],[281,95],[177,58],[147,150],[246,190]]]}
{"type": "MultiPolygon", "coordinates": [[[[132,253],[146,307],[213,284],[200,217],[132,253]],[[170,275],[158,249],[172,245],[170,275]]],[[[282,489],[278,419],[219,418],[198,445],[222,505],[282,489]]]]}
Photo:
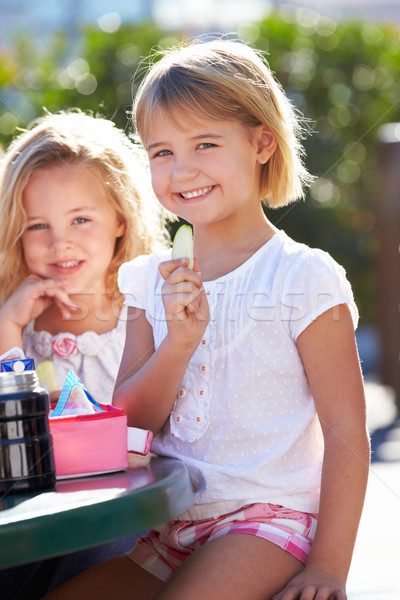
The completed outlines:
{"type": "Polygon", "coordinates": [[[71,110],[33,121],[10,144],[1,161],[0,306],[29,275],[21,244],[26,226],[24,189],[35,171],[54,163],[90,168],[117,218],[126,225],[124,235],[116,241],[106,276],[107,294],[118,297],[122,304],[118,268],[139,254],[151,252],[161,236],[163,218],[146,182],[143,150],[111,121],[71,110]]]}

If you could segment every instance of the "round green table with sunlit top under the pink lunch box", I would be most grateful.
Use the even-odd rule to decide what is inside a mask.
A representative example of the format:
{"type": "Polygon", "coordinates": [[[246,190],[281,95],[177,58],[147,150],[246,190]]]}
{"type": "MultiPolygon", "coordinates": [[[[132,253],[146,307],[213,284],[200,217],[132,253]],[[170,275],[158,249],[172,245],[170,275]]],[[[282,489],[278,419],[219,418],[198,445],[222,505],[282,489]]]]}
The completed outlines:
{"type": "Polygon", "coordinates": [[[125,471],[57,481],[0,500],[0,568],[95,546],[168,521],[193,503],[185,465],[151,457],[125,471]]]}

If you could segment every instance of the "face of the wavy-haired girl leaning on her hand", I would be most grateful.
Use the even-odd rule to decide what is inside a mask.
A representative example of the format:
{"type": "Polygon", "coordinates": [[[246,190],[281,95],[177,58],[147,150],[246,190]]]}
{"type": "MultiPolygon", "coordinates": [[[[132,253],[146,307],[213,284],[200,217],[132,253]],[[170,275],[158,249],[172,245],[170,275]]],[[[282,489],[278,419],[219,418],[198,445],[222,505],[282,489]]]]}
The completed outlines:
{"type": "Polygon", "coordinates": [[[23,193],[27,225],[22,248],[29,270],[65,279],[71,294],[104,288],[124,234],[94,171],[55,163],[34,172],[23,193]]]}

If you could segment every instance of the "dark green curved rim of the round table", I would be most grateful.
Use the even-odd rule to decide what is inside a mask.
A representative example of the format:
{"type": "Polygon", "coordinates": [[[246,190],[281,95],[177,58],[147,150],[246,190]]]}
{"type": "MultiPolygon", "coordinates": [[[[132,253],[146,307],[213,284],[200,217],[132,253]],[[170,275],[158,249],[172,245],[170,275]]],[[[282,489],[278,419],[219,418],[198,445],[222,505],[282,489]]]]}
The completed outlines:
{"type": "MultiPolygon", "coordinates": [[[[154,473],[166,469],[168,473],[161,480],[136,489],[133,494],[59,512],[57,530],[62,535],[54,532],[52,514],[1,524],[0,569],[96,546],[184,513],[193,504],[186,466],[174,459],[152,459],[154,473]]],[[[135,468],[127,469],[134,471],[135,468]]]]}

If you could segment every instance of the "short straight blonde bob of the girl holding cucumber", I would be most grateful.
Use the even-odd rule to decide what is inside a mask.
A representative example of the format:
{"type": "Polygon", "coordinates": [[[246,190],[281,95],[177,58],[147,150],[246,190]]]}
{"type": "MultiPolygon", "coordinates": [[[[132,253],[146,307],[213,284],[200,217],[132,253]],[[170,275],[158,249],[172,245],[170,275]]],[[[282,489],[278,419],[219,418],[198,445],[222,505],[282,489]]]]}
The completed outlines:
{"type": "Polygon", "coordinates": [[[277,147],[262,166],[260,198],[272,208],[302,198],[303,186],[313,179],[302,162],[300,115],[261,53],[242,42],[197,42],[163,52],[134,101],[135,125],[143,143],[156,107],[170,116],[188,111],[203,118],[237,120],[247,127],[266,125],[277,147]]]}

